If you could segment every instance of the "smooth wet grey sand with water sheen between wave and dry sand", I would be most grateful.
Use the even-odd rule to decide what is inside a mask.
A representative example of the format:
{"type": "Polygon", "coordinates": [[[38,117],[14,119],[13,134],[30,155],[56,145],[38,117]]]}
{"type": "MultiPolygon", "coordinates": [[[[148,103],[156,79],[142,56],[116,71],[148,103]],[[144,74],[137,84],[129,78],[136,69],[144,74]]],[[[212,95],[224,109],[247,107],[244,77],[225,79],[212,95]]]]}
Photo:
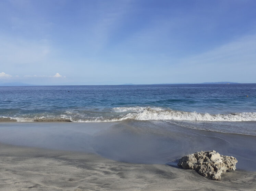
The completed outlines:
{"type": "Polygon", "coordinates": [[[166,164],[201,150],[237,158],[237,168],[255,171],[256,136],[187,128],[168,121],[98,123],[0,123],[0,142],[96,153],[104,158],[166,164]]]}

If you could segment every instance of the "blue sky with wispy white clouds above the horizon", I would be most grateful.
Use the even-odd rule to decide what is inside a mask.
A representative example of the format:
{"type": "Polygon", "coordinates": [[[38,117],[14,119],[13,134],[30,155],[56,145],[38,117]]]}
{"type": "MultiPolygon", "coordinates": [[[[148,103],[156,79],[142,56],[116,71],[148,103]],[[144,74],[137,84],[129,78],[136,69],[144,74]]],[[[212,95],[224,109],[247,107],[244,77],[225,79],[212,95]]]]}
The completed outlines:
{"type": "Polygon", "coordinates": [[[256,83],[255,0],[1,0],[0,83],[256,83]]]}

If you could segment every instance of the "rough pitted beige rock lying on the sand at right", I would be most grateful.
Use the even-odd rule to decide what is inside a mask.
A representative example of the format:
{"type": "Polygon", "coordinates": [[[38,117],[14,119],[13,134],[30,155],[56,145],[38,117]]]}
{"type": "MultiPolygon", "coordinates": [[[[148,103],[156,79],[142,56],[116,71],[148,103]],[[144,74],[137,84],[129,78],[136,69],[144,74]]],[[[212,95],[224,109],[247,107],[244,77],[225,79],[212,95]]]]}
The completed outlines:
{"type": "Polygon", "coordinates": [[[236,169],[236,163],[236,158],[220,155],[215,150],[212,150],[186,155],[179,160],[178,166],[184,169],[196,170],[204,177],[220,180],[221,173],[236,169]]]}

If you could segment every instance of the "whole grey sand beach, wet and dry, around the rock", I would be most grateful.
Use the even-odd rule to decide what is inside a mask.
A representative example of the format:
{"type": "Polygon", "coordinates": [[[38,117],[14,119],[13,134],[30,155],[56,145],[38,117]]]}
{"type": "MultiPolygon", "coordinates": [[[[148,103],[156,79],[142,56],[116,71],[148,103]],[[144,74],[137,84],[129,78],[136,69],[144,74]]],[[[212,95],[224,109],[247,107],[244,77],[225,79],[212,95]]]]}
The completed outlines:
{"type": "Polygon", "coordinates": [[[5,122],[0,123],[0,129],[0,190],[3,191],[256,188],[255,136],[228,133],[216,136],[217,132],[203,134],[196,129],[174,126],[171,130],[162,127],[155,131],[148,124],[139,128],[136,121],[5,122]],[[190,141],[191,130],[194,142],[190,141]],[[208,138],[203,141],[202,137],[208,138]],[[222,139],[225,141],[220,142],[222,139]],[[207,145],[209,140],[211,143],[207,145]],[[176,165],[175,159],[208,147],[225,155],[233,153],[239,161],[237,170],[226,172],[216,181],[176,165]]]}

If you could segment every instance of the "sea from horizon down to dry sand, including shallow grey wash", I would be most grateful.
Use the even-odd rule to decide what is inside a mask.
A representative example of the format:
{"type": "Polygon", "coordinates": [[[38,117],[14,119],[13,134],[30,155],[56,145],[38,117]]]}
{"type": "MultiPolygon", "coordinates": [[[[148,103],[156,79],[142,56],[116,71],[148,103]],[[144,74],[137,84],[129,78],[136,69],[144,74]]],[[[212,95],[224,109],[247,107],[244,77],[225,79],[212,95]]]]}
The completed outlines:
{"type": "Polygon", "coordinates": [[[256,171],[256,84],[2,86],[0,142],[170,165],[216,150],[256,171]]]}

